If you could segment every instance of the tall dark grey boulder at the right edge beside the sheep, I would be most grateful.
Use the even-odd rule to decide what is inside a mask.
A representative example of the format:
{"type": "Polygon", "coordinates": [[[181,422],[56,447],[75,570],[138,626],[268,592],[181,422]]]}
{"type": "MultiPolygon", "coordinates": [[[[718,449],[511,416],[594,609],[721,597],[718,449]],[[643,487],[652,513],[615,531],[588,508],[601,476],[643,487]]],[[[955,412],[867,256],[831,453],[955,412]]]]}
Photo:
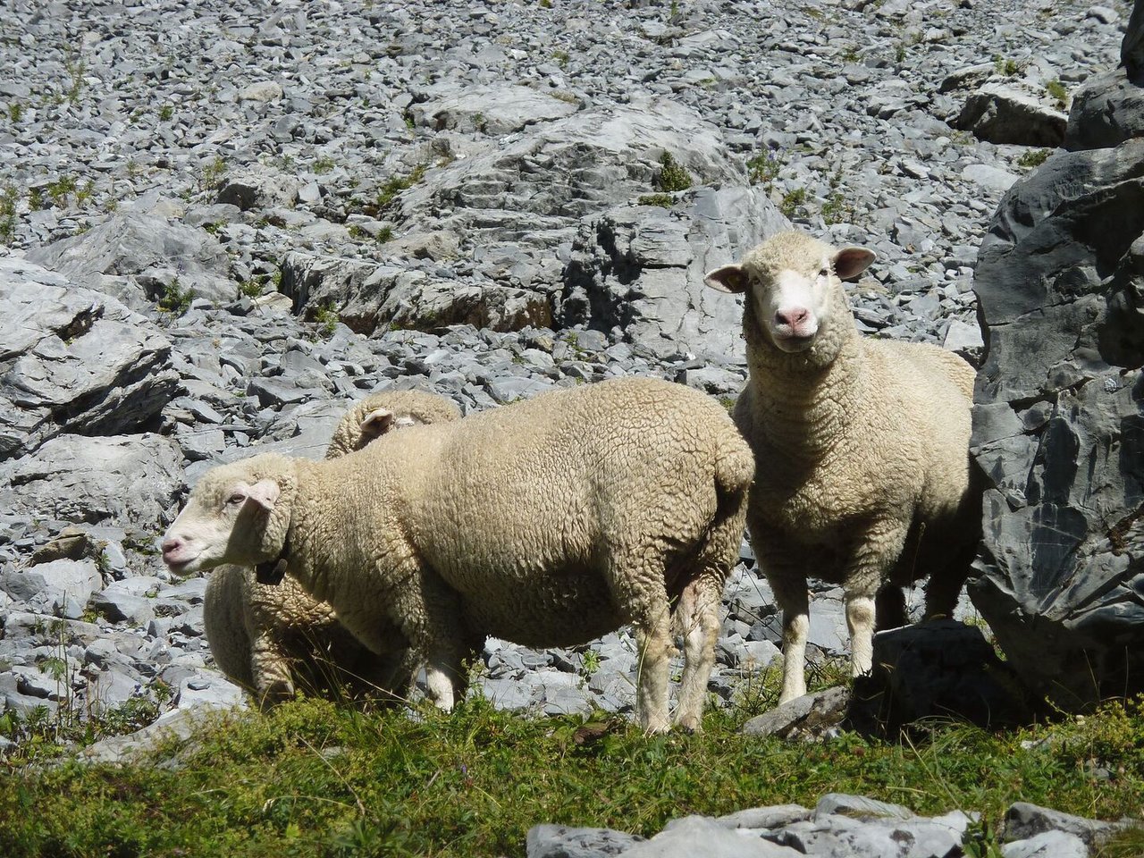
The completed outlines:
{"type": "Polygon", "coordinates": [[[970,596],[1027,685],[1067,708],[1144,690],[1138,94],[1123,70],[1090,81],[1066,135],[1080,151],[1012,186],[977,265],[972,444],[992,487],[970,596]]]}

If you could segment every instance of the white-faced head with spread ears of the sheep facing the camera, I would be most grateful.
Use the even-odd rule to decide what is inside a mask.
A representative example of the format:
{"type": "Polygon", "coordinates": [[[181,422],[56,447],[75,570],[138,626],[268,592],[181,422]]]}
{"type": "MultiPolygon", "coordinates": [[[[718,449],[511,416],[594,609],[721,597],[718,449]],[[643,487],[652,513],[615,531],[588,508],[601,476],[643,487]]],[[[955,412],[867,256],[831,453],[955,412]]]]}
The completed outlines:
{"type": "Polygon", "coordinates": [[[747,254],[741,263],[710,271],[705,281],[723,292],[746,293],[755,318],[776,348],[810,349],[826,328],[841,281],[861,273],[874,260],[863,247],[835,251],[801,232],[780,232],[747,254]]]}

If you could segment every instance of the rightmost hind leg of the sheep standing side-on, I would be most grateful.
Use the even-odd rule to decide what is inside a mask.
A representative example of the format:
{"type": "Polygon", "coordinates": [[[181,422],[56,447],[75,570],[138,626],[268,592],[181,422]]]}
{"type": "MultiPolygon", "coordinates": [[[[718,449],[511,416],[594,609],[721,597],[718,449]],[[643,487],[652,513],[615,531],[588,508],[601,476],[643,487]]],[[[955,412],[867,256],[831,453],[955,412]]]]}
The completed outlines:
{"type": "Polygon", "coordinates": [[[676,625],[683,635],[683,678],[675,723],[696,732],[702,726],[707,681],[715,667],[715,639],[718,637],[718,605],[725,575],[704,572],[689,583],[675,609],[676,625]]]}

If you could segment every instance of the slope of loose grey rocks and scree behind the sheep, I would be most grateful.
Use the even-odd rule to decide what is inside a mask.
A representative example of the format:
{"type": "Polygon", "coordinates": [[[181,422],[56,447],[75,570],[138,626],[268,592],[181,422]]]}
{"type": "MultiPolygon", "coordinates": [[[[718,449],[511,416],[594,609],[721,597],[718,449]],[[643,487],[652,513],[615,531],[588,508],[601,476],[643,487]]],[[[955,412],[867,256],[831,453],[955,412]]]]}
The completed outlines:
{"type": "MultiPolygon", "coordinates": [[[[320,455],[348,402],[611,375],[741,384],[702,271],[788,222],[879,260],[860,326],[978,356],[1002,193],[1129,8],[14,0],[0,19],[5,706],[233,702],[153,551],[209,462],[320,455]],[[64,669],[45,670],[46,660],[64,669]]],[[[776,654],[749,547],[713,689],[776,654]]],[[[839,593],[817,653],[837,654],[839,593]]],[[[484,693],[626,709],[630,637],[490,642],[484,693]],[[590,653],[590,654],[589,654],[590,653]]]]}

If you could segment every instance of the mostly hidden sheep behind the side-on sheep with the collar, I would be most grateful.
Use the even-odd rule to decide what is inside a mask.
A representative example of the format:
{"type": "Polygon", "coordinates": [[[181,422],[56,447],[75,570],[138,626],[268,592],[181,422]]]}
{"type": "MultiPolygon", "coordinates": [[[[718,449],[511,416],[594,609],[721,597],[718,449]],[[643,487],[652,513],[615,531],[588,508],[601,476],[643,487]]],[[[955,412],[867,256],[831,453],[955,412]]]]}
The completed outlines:
{"type": "MultiPolygon", "coordinates": [[[[459,420],[445,397],[418,390],[373,394],[358,402],[334,429],[326,458],[360,450],[388,431],[459,420]]],[[[315,693],[400,693],[416,664],[396,627],[379,656],[363,646],[326,602],[297,581],[260,583],[251,566],[223,564],[207,581],[202,623],[215,664],[232,682],[249,689],[261,706],[315,693]]]]}

